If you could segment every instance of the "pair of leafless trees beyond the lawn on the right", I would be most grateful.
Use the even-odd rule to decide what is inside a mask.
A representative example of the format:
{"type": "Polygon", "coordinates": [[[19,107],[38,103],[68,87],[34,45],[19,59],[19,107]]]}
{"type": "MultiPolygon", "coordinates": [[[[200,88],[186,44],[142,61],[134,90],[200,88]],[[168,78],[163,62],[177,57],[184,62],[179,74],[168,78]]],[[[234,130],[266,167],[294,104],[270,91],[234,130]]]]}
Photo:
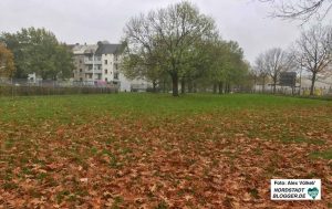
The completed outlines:
{"type": "Polygon", "coordinates": [[[311,75],[310,95],[319,75],[331,73],[332,28],[321,24],[302,31],[300,38],[288,50],[270,49],[261,53],[253,67],[255,75],[266,85],[271,79],[273,92],[281,72],[305,70],[311,75]]]}

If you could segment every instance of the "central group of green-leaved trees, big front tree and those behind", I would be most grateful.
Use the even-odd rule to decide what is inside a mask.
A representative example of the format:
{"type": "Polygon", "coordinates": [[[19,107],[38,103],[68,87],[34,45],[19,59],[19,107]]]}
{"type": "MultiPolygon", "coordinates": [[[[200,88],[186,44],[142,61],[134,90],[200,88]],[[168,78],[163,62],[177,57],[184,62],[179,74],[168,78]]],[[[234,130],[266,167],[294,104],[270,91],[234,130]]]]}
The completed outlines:
{"type": "Polygon", "coordinates": [[[221,93],[248,76],[238,43],[222,40],[215,21],[189,2],[132,18],[124,31],[124,74],[147,79],[154,88],[169,77],[174,96],[178,84],[181,93],[198,84],[221,93]]]}

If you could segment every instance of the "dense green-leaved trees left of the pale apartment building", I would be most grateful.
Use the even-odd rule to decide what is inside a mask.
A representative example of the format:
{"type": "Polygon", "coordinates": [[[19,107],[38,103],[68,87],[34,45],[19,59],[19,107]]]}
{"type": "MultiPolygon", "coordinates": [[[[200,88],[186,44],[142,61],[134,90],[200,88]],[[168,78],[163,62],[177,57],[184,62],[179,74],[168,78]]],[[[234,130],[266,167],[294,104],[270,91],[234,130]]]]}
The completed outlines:
{"type": "MultiPolygon", "coordinates": [[[[22,79],[29,73],[37,73],[43,80],[56,80],[72,75],[72,52],[45,29],[28,28],[17,33],[4,32],[0,34],[0,43],[13,54],[15,71],[11,70],[13,73],[9,76],[22,79]]],[[[6,53],[0,51],[1,54],[6,53]]],[[[11,67],[8,64],[6,66],[11,67]]]]}

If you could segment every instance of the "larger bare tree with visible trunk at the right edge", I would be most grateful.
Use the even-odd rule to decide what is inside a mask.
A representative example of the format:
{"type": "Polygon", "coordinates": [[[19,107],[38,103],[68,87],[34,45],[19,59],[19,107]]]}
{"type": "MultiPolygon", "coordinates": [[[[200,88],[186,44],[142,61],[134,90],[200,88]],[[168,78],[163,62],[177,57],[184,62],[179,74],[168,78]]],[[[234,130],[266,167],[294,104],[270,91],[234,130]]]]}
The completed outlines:
{"type": "Polygon", "coordinates": [[[331,63],[332,29],[314,25],[303,31],[295,42],[294,53],[301,65],[311,73],[310,95],[313,95],[314,83],[319,74],[326,74],[331,63]]]}

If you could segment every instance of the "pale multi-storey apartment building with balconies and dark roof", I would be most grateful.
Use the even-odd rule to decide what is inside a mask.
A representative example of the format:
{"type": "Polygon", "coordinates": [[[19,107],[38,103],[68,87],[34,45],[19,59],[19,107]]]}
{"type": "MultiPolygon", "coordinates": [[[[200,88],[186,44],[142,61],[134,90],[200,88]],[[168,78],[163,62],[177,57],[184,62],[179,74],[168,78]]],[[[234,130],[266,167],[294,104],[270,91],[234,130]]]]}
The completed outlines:
{"type": "Polygon", "coordinates": [[[73,81],[82,85],[117,85],[129,92],[133,86],[148,86],[144,80],[127,80],[120,72],[121,44],[107,41],[97,44],[72,45],[74,54],[73,81]]]}

